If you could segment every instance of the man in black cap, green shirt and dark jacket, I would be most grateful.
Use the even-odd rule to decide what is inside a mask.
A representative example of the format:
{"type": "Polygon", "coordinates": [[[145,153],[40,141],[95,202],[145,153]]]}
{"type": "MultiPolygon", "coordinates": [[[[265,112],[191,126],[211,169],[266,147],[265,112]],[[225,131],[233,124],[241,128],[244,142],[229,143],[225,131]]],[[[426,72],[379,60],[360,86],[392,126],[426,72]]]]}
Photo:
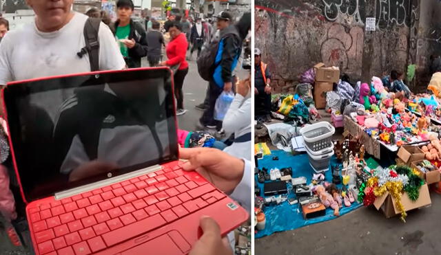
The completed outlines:
{"type": "Polygon", "coordinates": [[[141,67],[141,58],[147,56],[147,34],[143,25],[134,22],[132,0],[116,2],[118,20],[114,24],[114,35],[118,38],[121,54],[129,68],[141,67]]]}

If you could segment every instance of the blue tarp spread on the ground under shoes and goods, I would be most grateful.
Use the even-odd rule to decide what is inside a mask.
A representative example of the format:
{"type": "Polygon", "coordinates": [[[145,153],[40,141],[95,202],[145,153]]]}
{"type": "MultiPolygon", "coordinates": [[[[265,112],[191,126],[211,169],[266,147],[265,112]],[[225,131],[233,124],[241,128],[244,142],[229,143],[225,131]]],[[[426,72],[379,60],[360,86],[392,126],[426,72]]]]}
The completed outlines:
{"type": "MultiPolygon", "coordinates": [[[[332,157],[331,165],[336,163],[336,158],[332,157]]],[[[306,154],[293,156],[290,153],[286,153],[285,151],[271,151],[271,155],[267,155],[263,157],[263,159],[259,159],[258,164],[260,169],[262,169],[263,167],[268,169],[281,169],[291,166],[293,170],[292,176],[305,176],[307,178],[307,184],[311,183],[312,175],[313,173],[315,173],[309,165],[309,159],[306,154]],[[273,160],[273,157],[278,157],[279,159],[273,160]]],[[[258,186],[260,187],[261,195],[263,195],[263,184],[260,184],[257,181],[257,177],[255,178],[256,184],[258,184],[258,186]]],[[[332,181],[331,170],[328,170],[326,172],[325,180],[329,182],[332,181]]],[[[288,188],[291,188],[291,184],[289,184],[288,188]]],[[[338,188],[341,188],[341,185],[339,185],[338,188]]],[[[288,197],[295,197],[292,190],[289,190],[288,197]]],[[[343,205],[343,207],[340,208],[340,217],[343,214],[347,214],[352,210],[360,208],[360,206],[362,206],[362,204],[356,202],[352,203],[349,208],[343,205]]],[[[302,211],[301,208],[299,208],[299,204],[296,203],[295,205],[291,206],[288,201],[280,203],[278,206],[267,206],[264,212],[266,217],[265,230],[259,231],[255,236],[256,239],[263,236],[268,236],[270,234],[273,234],[274,232],[294,230],[296,228],[302,228],[305,225],[311,225],[322,221],[329,221],[336,218],[334,217],[334,210],[332,210],[331,208],[327,208],[325,216],[305,220],[303,219],[302,211]]]]}

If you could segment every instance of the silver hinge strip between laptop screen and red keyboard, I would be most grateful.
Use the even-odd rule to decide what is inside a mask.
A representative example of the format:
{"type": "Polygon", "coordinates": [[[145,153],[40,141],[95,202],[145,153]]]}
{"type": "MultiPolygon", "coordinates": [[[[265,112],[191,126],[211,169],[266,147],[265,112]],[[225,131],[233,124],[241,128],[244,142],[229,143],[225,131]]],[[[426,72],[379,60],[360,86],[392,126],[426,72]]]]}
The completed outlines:
{"type": "Polygon", "coordinates": [[[74,195],[79,195],[83,192],[88,192],[90,190],[94,190],[96,188],[101,188],[104,186],[109,186],[111,184],[116,184],[118,182],[121,181],[125,181],[127,179],[132,179],[134,177],[137,177],[139,175],[146,175],[147,173],[152,173],[156,170],[161,170],[162,167],[159,165],[154,165],[154,166],[150,166],[147,168],[143,168],[140,170],[136,170],[134,172],[131,173],[126,173],[124,175],[119,175],[116,177],[112,177],[110,179],[104,179],[102,181],[96,181],[93,184],[86,184],[84,186],[80,186],[80,187],[76,187],[76,188],[72,188],[70,190],[63,190],[61,192],[57,192],[55,193],[55,200],[59,200],[59,199],[65,199],[66,197],[72,197],[74,195]]]}

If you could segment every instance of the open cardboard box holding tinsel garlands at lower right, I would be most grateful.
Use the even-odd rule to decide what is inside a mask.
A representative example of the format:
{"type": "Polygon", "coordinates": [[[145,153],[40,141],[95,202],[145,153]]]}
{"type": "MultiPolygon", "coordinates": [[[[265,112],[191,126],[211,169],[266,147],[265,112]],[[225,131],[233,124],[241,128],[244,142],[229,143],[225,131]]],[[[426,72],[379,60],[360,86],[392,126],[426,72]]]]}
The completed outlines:
{"type": "MultiPolygon", "coordinates": [[[[429,188],[427,184],[421,186],[420,197],[418,197],[417,201],[412,201],[411,199],[409,199],[409,197],[407,196],[407,192],[404,192],[401,196],[401,203],[404,206],[404,210],[406,210],[406,212],[416,208],[430,206],[432,201],[430,199],[429,188]]],[[[384,193],[384,195],[382,195],[381,197],[377,197],[373,202],[373,206],[375,206],[377,210],[381,209],[387,219],[401,213],[400,210],[398,210],[398,208],[396,207],[395,199],[392,198],[389,192],[384,193]]]]}

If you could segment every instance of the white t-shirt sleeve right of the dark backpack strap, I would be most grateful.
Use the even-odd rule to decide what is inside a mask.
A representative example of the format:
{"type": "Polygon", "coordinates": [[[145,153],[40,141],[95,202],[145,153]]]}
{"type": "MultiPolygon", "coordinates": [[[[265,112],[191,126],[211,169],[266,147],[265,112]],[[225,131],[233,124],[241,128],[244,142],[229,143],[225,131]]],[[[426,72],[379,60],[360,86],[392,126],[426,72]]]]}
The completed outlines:
{"type": "Polygon", "coordinates": [[[101,22],[99,32],[99,69],[100,70],[121,70],[125,69],[125,61],[118,43],[104,23],[101,22]]]}

